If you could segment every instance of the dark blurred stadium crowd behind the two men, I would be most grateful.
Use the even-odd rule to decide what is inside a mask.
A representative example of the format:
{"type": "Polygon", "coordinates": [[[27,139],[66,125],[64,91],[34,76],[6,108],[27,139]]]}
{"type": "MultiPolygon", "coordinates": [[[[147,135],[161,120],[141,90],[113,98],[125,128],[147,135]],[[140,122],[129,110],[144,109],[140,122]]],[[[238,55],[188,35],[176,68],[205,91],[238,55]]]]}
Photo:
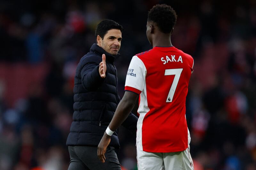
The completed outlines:
{"type": "MultiPolygon", "coordinates": [[[[255,0],[0,1],[1,170],[68,169],[74,73],[96,25],[124,27],[122,97],[132,56],[151,48],[147,13],[157,3],[175,9],[172,44],[195,60],[186,103],[195,170],[256,170],[255,0]]],[[[123,170],[137,169],[135,137],[120,128],[123,170]]]]}

